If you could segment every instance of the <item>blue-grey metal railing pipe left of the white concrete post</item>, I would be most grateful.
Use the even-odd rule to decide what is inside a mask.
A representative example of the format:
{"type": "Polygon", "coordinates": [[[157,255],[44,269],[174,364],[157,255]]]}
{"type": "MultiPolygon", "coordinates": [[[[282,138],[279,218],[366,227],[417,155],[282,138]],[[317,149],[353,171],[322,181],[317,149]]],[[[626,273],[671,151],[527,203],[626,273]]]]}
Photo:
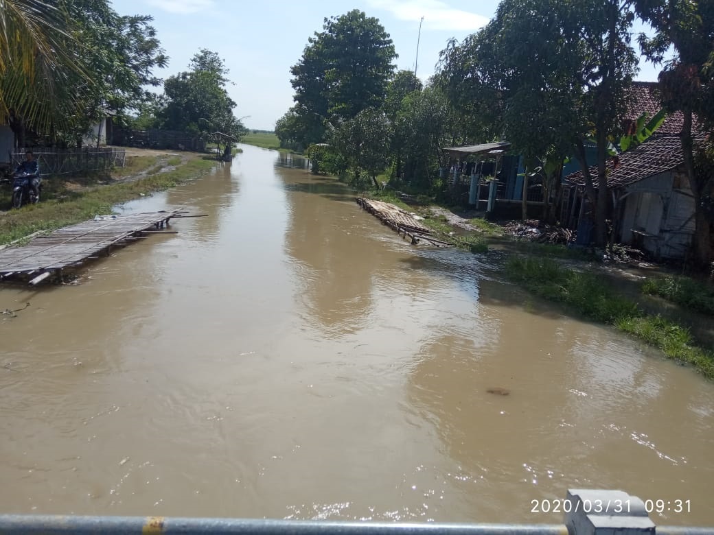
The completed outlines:
{"type": "MultiPolygon", "coordinates": [[[[548,524],[396,524],[144,516],[0,515],[0,534],[111,535],[568,535],[548,524]]],[[[678,534],[679,535],[679,534],[678,534]]],[[[683,534],[681,534],[683,535],[683,534]]]]}

